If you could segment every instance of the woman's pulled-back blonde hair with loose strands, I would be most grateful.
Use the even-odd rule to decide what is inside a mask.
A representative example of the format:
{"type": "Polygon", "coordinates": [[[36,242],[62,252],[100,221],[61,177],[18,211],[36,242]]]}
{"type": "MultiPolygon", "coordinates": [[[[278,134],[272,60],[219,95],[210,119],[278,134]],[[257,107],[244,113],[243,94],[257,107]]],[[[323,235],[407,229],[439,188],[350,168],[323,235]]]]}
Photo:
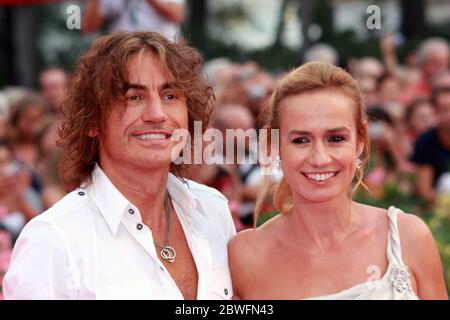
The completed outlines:
{"type": "MultiPolygon", "coordinates": [[[[335,90],[354,102],[357,137],[359,141],[364,143],[364,149],[360,156],[361,167],[356,171],[356,183],[352,190],[353,194],[359,185],[362,184],[364,167],[370,154],[370,141],[365,127],[366,110],[361,91],[356,80],[344,69],[328,63],[310,62],[289,72],[279,80],[264,108],[262,113],[264,127],[267,129],[279,129],[280,104],[283,99],[292,95],[322,90],[335,90]]],[[[270,187],[270,179],[266,176],[264,187],[256,202],[255,226],[267,196],[272,195],[272,202],[277,211],[285,212],[292,206],[291,189],[284,178],[272,190],[270,190],[270,187]]]]}

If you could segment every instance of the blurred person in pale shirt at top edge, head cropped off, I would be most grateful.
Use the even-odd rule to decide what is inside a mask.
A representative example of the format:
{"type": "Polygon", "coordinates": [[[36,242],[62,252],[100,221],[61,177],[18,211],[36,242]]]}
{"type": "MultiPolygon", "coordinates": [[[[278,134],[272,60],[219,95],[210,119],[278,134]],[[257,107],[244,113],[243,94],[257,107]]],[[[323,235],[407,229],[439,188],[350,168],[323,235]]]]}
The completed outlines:
{"type": "Polygon", "coordinates": [[[155,31],[177,40],[184,11],[184,0],[91,0],[82,29],[96,32],[109,19],[109,32],[155,31]]]}

